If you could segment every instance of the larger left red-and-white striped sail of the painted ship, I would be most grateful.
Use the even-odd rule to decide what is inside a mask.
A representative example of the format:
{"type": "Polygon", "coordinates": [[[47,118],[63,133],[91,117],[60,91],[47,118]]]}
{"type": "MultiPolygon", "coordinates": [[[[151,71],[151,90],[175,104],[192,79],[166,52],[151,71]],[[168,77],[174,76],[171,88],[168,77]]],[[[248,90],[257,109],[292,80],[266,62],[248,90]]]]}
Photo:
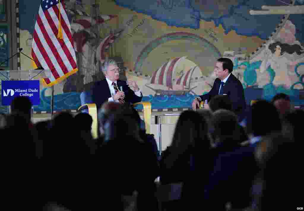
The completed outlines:
{"type": "Polygon", "coordinates": [[[164,63],[157,71],[154,72],[150,83],[164,85],[172,89],[172,81],[173,76],[175,75],[176,67],[178,66],[178,63],[185,58],[186,56],[177,57],[164,63]]]}

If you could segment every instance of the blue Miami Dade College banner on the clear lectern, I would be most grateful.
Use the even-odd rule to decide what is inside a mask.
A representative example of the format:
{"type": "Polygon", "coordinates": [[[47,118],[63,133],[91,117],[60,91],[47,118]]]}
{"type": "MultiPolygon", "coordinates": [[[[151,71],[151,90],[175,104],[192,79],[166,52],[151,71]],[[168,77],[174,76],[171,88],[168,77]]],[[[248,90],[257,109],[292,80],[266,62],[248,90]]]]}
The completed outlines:
{"type": "Polygon", "coordinates": [[[29,97],[32,105],[40,104],[39,80],[2,80],[2,105],[11,105],[17,96],[29,97]]]}

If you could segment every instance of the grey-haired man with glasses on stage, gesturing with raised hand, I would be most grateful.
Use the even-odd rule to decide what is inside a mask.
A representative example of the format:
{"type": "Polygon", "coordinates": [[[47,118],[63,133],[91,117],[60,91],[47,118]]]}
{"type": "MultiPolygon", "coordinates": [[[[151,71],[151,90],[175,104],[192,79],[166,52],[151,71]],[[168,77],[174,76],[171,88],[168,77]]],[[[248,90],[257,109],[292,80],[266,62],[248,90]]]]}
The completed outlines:
{"type": "Polygon", "coordinates": [[[135,81],[118,80],[119,67],[114,60],[106,60],[102,65],[105,79],[97,81],[92,89],[92,100],[99,109],[104,102],[133,104],[140,102],[142,93],[135,81]]]}

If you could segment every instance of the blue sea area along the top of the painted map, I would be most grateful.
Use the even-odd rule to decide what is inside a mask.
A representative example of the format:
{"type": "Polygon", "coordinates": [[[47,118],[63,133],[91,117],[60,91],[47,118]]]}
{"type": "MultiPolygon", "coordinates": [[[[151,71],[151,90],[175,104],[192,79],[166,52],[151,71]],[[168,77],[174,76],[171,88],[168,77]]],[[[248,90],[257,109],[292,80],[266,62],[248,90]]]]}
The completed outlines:
{"type": "MultiPolygon", "coordinates": [[[[116,3],[166,22],[168,26],[198,29],[200,20],[214,21],[216,26],[222,24],[226,33],[235,30],[240,35],[266,39],[283,15],[250,15],[249,10],[261,10],[262,5],[285,6],[290,0],[268,0],[267,3],[264,0],[116,0],[116,3]]],[[[303,4],[303,0],[296,0],[295,5],[303,4]]],[[[290,15],[289,20],[297,28],[297,40],[304,43],[304,15],[290,15]]]]}

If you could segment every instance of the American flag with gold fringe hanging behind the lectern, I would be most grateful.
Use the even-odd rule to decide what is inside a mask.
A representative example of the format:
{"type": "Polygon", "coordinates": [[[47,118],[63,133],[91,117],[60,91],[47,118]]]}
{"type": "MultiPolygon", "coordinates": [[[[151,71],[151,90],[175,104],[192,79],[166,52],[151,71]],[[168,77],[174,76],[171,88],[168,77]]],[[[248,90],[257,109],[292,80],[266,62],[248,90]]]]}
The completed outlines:
{"type": "Polygon", "coordinates": [[[32,58],[37,67],[51,70],[50,77],[43,78],[48,87],[78,71],[70,22],[60,0],[41,1],[33,33],[32,58]],[[62,39],[57,37],[60,28],[62,39]]]}

